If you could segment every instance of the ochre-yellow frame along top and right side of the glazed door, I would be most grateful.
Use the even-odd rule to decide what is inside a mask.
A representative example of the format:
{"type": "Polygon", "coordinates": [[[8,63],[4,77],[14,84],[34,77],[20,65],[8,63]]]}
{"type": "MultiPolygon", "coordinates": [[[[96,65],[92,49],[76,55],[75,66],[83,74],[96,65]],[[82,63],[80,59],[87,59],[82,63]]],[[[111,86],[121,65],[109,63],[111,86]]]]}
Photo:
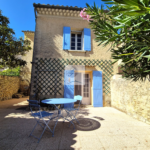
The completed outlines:
{"type": "MultiPolygon", "coordinates": [[[[83,70],[76,71],[75,70],[75,73],[89,73],[89,75],[90,75],[90,102],[91,102],[91,105],[93,106],[93,70],[91,70],[91,71],[90,70],[88,70],[88,71],[83,71],[83,70]]],[[[74,91],[74,93],[75,93],[75,91],[74,91]]]]}

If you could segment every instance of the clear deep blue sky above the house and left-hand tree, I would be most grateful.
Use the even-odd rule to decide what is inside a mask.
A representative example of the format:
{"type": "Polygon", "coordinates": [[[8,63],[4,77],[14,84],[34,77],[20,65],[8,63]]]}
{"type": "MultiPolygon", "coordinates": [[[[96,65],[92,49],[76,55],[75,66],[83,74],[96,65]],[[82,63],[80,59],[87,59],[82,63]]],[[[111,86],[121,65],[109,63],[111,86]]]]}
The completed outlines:
{"type": "MultiPolygon", "coordinates": [[[[35,16],[33,3],[86,7],[86,3],[93,5],[92,0],[3,0],[0,2],[2,14],[9,18],[9,26],[15,31],[16,37],[24,36],[22,30],[35,30],[35,16]]],[[[95,0],[99,7],[104,4],[95,0]]]]}

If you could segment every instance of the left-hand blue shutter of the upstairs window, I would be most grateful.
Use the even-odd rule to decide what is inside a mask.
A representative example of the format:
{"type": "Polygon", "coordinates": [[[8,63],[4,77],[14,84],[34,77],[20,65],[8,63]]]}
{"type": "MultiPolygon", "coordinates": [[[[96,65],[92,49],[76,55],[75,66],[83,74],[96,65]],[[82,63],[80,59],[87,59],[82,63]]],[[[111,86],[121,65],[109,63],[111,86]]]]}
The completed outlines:
{"type": "Polygon", "coordinates": [[[63,27],[63,49],[70,50],[70,27],[63,27]]]}

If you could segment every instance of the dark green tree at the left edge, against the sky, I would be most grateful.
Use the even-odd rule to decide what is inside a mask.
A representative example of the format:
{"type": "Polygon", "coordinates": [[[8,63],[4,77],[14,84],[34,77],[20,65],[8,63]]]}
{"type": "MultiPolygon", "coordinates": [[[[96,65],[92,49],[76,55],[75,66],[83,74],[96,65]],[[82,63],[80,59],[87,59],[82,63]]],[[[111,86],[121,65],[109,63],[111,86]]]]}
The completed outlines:
{"type": "Polygon", "coordinates": [[[16,39],[15,32],[9,26],[9,19],[2,15],[0,10],[0,66],[15,68],[25,66],[26,61],[18,55],[25,55],[31,50],[30,41],[23,38],[16,39]]]}

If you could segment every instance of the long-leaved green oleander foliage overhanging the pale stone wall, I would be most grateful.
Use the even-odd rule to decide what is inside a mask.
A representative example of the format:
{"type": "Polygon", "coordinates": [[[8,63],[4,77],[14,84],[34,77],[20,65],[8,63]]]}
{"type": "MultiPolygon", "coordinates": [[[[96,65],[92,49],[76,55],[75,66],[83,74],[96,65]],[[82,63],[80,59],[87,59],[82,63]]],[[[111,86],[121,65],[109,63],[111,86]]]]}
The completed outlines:
{"type": "Polygon", "coordinates": [[[110,45],[114,63],[122,60],[123,77],[150,80],[150,1],[102,0],[103,6],[89,6],[90,27],[98,45],[110,45]]]}

